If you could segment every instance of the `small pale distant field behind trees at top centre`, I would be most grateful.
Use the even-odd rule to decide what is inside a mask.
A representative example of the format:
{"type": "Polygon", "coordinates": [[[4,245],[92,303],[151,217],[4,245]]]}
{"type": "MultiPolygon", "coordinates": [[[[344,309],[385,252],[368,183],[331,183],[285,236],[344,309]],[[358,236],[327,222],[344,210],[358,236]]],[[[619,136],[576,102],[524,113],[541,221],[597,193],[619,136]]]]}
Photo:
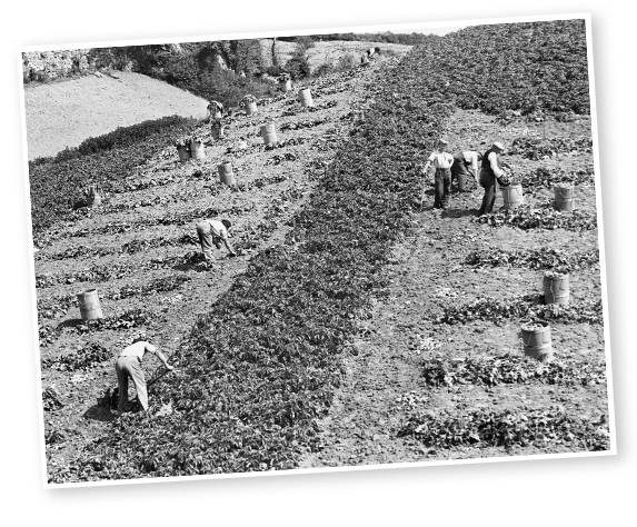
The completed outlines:
{"type": "MultiPolygon", "coordinates": [[[[265,51],[271,52],[272,40],[262,39],[261,44],[265,51]]],[[[405,44],[392,44],[387,42],[360,42],[360,41],[349,41],[349,40],[330,40],[328,42],[316,42],[313,48],[308,50],[308,60],[310,62],[310,68],[316,68],[327,61],[336,61],[339,57],[350,52],[357,58],[365,52],[365,50],[372,47],[380,47],[381,52],[386,50],[391,50],[397,53],[405,53],[409,51],[412,47],[405,44]]],[[[296,43],[285,42],[277,40],[277,50],[279,52],[279,60],[286,62],[293,53],[296,49],[296,43]]],[[[265,53],[266,57],[268,53],[265,53]]]]}

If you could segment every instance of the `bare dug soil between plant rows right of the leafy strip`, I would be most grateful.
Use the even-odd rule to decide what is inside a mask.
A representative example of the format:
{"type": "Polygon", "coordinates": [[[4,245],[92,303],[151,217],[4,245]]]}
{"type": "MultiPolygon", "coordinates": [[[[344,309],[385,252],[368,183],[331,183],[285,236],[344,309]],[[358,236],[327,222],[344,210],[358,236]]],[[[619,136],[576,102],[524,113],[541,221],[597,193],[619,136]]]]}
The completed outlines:
{"type": "MultiPolygon", "coordinates": [[[[494,140],[510,146],[520,133],[546,137],[589,137],[588,119],[573,123],[526,123],[509,126],[475,111],[458,111],[449,129],[450,149],[484,151],[494,140]]],[[[539,166],[566,170],[590,166],[590,153],[558,156],[530,161],[520,156],[506,158],[521,172],[539,166]]],[[[529,191],[526,189],[525,192],[529,191]]],[[[527,231],[494,229],[478,225],[481,189],[451,196],[449,208],[432,209],[432,191],[425,198],[420,213],[414,217],[412,230],[395,248],[387,269],[391,286],[386,298],[376,302],[372,319],[364,327],[352,347],[346,382],[329,416],[320,424],[322,449],[309,455],[303,468],[378,465],[494,456],[534,455],[577,451],[568,443],[547,443],[545,448],[504,447],[427,448],[412,436],[398,437],[410,416],[419,412],[439,415],[447,410],[458,415],[474,409],[537,409],[560,405],[567,411],[596,418],[607,412],[605,379],[589,386],[570,388],[543,384],[499,385],[492,388],[457,384],[432,388],[422,376],[426,357],[492,357],[507,351],[521,354],[519,324],[468,322],[436,325],[435,318],[449,306],[477,298],[506,299],[520,294],[541,292],[541,270],[525,268],[472,269],[464,264],[471,250],[484,248],[555,248],[571,252],[597,247],[597,230],[573,232],[563,229],[527,231]]],[[[550,196],[548,190],[526,196],[537,203],[550,196]]],[[[417,197],[415,197],[417,198],[417,197]]],[[[418,201],[416,199],[416,201],[418,201]]],[[[496,209],[502,203],[498,196],[496,209]]],[[[576,188],[580,210],[595,211],[595,188],[576,188]]],[[[599,266],[581,269],[571,276],[571,301],[600,298],[599,266]]],[[[551,324],[556,357],[580,365],[605,364],[601,326],[551,324]]]]}

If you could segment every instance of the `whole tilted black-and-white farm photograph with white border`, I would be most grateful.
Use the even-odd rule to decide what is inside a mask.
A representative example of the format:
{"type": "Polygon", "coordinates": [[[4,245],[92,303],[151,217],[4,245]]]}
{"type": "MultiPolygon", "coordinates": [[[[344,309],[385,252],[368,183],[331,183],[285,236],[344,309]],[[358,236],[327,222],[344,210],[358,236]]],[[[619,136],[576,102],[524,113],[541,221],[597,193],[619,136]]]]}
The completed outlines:
{"type": "Polygon", "coordinates": [[[47,484],[613,454],[589,39],[23,51],[47,484]]]}

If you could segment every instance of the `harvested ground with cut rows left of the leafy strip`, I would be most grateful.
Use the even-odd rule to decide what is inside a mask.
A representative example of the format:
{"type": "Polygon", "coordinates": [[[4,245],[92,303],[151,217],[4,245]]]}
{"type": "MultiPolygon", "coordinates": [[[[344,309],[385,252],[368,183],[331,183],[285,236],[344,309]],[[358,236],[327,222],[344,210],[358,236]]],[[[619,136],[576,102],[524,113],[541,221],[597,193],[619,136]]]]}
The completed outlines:
{"type": "MultiPolygon", "coordinates": [[[[246,270],[251,255],[282,242],[290,228],[288,220],[303,206],[322,167],[349,132],[352,110],[365,108],[366,86],[382,67],[386,66],[358,68],[352,73],[313,82],[315,111],[300,109],[290,96],[262,106],[253,118],[237,118],[230,125],[228,138],[221,141],[212,139],[205,127],[199,130],[209,143],[203,160],[179,162],[175,148],[167,147],[122,181],[122,188],[130,183],[141,186],[142,190],[107,193],[103,203],[88,211],[88,216],[58,225],[41,237],[48,242],[38,252],[36,275],[50,284],[41,282],[37,290],[39,308],[42,311],[43,306],[59,306],[61,298],[71,297],[67,309],[52,317],[42,312],[40,320],[47,328],[41,328],[41,336],[51,335],[49,344],[41,339],[42,388],[54,388],[63,405],[44,412],[50,476],[63,473],[76,448],[99,438],[115,418],[115,412],[97,402],[104,389],[113,386],[112,358],[121,347],[145,330],[170,356],[187,339],[199,315],[207,312],[246,270]],[[291,140],[291,143],[266,150],[258,136],[259,126],[272,120],[280,141],[291,140]],[[246,138],[248,148],[228,155],[228,147],[240,137],[246,138]],[[222,159],[233,162],[237,189],[218,181],[217,163],[222,159]],[[241,186],[252,183],[241,190],[241,186]],[[218,252],[213,271],[203,271],[189,260],[189,255],[199,251],[195,225],[201,218],[183,220],[190,211],[206,209],[227,211],[221,217],[232,221],[230,241],[241,249],[237,258],[218,252]],[[147,241],[152,243],[150,248],[145,248],[147,241]],[[66,257],[67,251],[79,246],[86,255],[66,257]],[[137,246],[142,250],[130,252],[137,246]],[[94,256],[96,251],[101,256],[94,256]],[[94,268],[118,269],[118,272],[107,280],[81,278],[82,272],[94,268]],[[175,289],[133,291],[126,296],[130,288],[149,286],[156,280],[168,284],[176,278],[183,281],[175,289]],[[111,329],[82,329],[72,297],[91,288],[99,291],[104,317],[121,317],[140,309],[147,320],[111,329]],[[91,345],[103,346],[109,357],[71,371],[57,370],[47,362],[86,355],[91,345]]],[[[151,376],[157,367],[155,358],[145,365],[151,376]]],[[[130,396],[133,394],[131,388],[130,396]]]]}

